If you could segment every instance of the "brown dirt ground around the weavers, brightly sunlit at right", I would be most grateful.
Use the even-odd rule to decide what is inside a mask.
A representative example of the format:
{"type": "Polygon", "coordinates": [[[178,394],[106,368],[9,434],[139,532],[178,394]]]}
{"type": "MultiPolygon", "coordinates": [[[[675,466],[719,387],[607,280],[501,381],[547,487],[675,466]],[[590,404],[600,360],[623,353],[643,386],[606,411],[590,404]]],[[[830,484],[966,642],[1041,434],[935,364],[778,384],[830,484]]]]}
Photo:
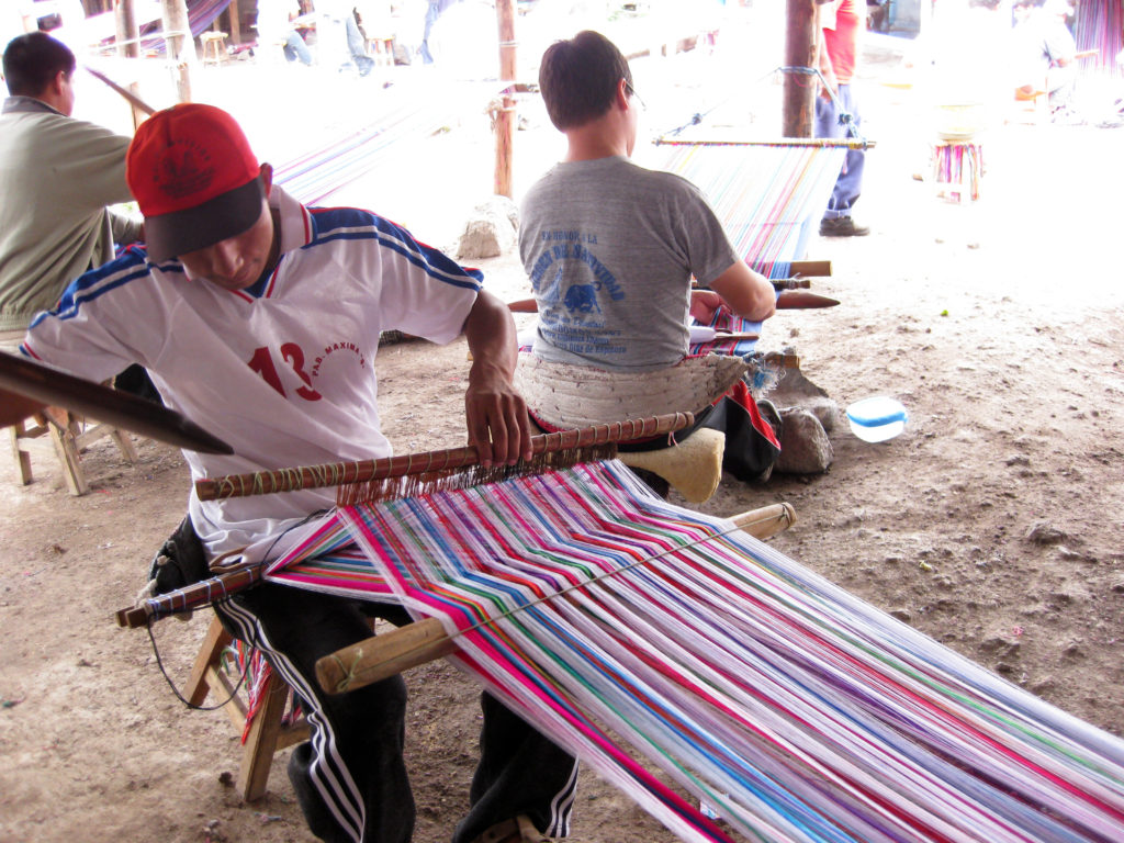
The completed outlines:
{"type": "MultiPolygon", "coordinates": [[[[798,522],[774,546],[1120,734],[1120,130],[997,126],[985,139],[981,199],[953,203],[913,178],[928,172],[932,137],[914,119],[923,106],[879,85],[876,71],[863,93],[878,146],[856,210],[873,233],[814,241],[809,256],[831,260],[833,274],[813,290],[842,303],[780,312],[762,342],[795,348],[841,406],[898,398],[908,426],[868,444],[839,424],[827,473],[756,487],[726,478],[703,508],[791,502],[798,522]]],[[[481,266],[489,289],[526,294],[510,255],[481,266]]],[[[398,451],[462,444],[463,343],[387,346],[378,366],[398,451]]],[[[84,460],[93,489],[81,498],[66,493],[45,444],[28,487],[0,461],[0,840],[310,841],[288,752],[269,794],[244,804],[229,783],[239,746],[226,717],[185,710],[147,636],[114,625],[188,492],[179,452],[137,445],[135,466],[108,442],[94,445],[84,460]]],[[[155,627],[181,685],[208,619],[155,627]]],[[[407,680],[415,840],[437,843],[465,806],[477,690],[443,663],[407,680]]],[[[588,776],[574,839],[671,837],[588,776]]]]}

